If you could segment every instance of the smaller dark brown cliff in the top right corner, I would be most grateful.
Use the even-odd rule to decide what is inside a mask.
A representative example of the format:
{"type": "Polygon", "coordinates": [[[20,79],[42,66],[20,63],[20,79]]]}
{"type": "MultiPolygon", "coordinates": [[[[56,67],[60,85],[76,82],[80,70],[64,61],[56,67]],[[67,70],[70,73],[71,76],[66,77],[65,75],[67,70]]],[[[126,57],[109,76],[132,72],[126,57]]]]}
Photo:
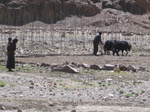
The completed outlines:
{"type": "Polygon", "coordinates": [[[103,8],[113,8],[130,12],[132,14],[144,14],[150,12],[150,0],[105,0],[103,8]]]}

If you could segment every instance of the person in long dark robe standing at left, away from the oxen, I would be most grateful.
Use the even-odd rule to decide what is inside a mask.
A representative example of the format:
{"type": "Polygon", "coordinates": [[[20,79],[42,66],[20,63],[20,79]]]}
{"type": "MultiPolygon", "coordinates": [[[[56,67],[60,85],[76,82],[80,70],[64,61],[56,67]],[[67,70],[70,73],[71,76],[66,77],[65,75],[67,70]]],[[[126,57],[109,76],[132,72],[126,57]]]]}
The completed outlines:
{"type": "Polygon", "coordinates": [[[18,39],[14,39],[12,42],[11,38],[8,38],[7,44],[7,65],[6,68],[8,71],[12,71],[15,68],[15,50],[16,50],[16,43],[18,39]]]}

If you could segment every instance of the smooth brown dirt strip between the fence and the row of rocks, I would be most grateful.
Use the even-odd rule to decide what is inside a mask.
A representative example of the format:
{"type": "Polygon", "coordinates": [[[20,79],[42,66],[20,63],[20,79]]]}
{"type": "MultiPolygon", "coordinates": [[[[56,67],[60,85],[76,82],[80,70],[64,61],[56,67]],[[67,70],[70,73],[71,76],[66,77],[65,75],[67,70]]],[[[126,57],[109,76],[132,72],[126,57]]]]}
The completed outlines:
{"type": "Polygon", "coordinates": [[[135,67],[145,67],[150,69],[150,57],[149,56],[111,56],[111,55],[99,55],[93,56],[88,55],[70,55],[70,56],[45,56],[45,57],[24,57],[16,58],[16,61],[22,61],[26,63],[58,63],[63,64],[65,62],[75,62],[75,63],[87,63],[87,64],[126,64],[134,65],[135,67]]]}

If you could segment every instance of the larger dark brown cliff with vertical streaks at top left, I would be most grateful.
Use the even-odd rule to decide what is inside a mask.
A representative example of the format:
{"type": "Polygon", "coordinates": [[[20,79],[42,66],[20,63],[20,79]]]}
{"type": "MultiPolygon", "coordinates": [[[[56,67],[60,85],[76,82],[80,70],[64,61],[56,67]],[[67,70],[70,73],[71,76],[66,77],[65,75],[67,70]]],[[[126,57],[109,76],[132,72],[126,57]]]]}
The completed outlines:
{"type": "Polygon", "coordinates": [[[71,15],[93,16],[100,12],[87,0],[1,0],[0,24],[23,25],[32,21],[55,23],[71,15]]]}

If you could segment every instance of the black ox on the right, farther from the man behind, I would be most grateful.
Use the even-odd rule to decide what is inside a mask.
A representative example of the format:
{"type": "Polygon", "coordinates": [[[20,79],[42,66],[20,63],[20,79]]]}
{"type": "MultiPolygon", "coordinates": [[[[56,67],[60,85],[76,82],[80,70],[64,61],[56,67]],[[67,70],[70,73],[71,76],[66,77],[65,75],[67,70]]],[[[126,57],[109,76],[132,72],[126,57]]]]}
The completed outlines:
{"type": "Polygon", "coordinates": [[[119,51],[123,52],[126,51],[126,55],[128,54],[128,51],[131,50],[131,45],[127,41],[115,41],[112,46],[113,55],[115,53],[119,56],[119,51]]]}

